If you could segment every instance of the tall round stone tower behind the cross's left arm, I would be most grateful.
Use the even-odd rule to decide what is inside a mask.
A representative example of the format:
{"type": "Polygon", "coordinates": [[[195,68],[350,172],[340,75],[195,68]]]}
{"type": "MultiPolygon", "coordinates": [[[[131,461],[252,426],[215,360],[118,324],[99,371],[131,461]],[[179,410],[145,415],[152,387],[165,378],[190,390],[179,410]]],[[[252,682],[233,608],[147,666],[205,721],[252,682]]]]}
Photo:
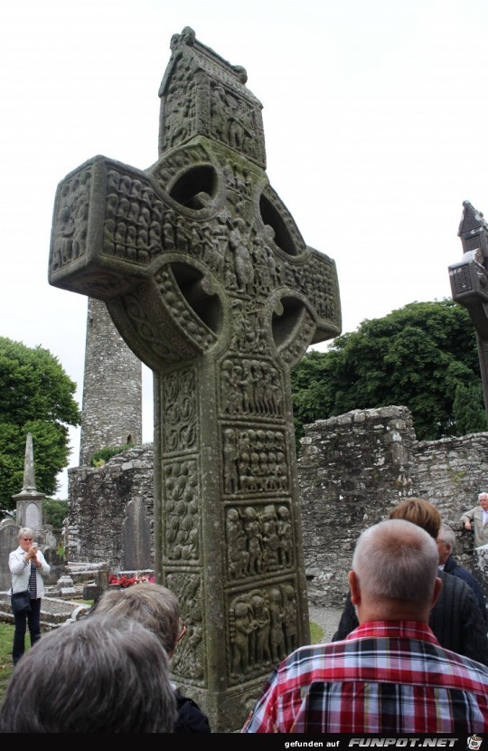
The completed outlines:
{"type": "Polygon", "coordinates": [[[89,298],[80,466],[105,446],[141,442],[141,361],[119,335],[105,302],[89,298]]]}

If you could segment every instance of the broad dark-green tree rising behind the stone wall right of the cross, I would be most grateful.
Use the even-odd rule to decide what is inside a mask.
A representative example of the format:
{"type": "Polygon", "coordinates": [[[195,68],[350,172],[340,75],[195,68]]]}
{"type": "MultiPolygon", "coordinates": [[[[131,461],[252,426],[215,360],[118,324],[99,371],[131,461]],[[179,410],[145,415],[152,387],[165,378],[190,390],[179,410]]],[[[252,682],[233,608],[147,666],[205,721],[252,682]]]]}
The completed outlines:
{"type": "Polygon", "coordinates": [[[408,407],[419,441],[488,429],[474,327],[452,299],[409,303],[311,350],[292,390],[297,439],[306,423],[389,404],[408,407]]]}

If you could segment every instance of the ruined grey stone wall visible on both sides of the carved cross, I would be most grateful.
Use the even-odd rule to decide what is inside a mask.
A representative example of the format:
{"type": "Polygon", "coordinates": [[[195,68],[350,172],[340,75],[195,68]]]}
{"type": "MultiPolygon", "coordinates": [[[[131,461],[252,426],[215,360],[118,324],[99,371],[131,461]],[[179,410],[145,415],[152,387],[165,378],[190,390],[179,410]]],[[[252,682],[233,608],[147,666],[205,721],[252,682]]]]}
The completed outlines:
{"type": "MultiPolygon", "coordinates": [[[[152,444],[68,474],[68,558],[119,570],[131,500],[142,499],[153,529],[152,444]]],[[[354,410],[305,428],[298,478],[311,604],[342,607],[357,537],[408,496],[436,505],[455,528],[455,557],[473,570],[472,536],[459,518],[488,488],[488,433],[418,442],[407,407],[354,410]]]]}

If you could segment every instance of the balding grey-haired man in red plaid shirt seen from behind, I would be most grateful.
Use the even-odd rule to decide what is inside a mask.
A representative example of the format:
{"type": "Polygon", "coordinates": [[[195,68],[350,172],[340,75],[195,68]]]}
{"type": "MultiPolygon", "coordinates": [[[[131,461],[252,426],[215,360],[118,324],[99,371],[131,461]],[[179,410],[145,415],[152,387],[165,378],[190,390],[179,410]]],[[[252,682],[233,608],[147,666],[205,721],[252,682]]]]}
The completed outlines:
{"type": "Polygon", "coordinates": [[[366,529],[349,572],[360,625],[302,647],[273,671],[243,733],[488,731],[488,668],[428,626],[441,581],[436,543],[404,519],[366,529]]]}

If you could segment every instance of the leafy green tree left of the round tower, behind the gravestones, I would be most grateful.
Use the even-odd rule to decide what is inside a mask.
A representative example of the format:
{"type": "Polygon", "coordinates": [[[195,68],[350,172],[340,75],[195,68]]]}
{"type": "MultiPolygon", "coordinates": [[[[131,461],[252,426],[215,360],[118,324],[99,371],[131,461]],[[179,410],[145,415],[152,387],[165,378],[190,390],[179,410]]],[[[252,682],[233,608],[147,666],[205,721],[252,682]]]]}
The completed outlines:
{"type": "Polygon", "coordinates": [[[33,435],[37,490],[52,495],[68,465],[69,426],[79,425],[76,384],[42,347],[0,337],[0,503],[13,509],[23,487],[27,433],[33,435]]]}

